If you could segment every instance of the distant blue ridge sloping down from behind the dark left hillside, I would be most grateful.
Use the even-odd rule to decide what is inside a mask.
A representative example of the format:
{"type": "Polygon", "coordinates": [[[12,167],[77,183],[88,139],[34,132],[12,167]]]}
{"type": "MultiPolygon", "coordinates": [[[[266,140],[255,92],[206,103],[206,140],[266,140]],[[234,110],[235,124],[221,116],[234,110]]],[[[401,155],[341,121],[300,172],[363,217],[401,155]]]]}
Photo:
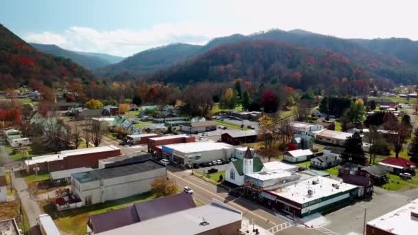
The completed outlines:
{"type": "Polygon", "coordinates": [[[57,45],[46,45],[38,43],[30,43],[32,47],[35,47],[40,52],[45,54],[52,54],[54,56],[61,56],[73,60],[78,65],[85,67],[86,69],[96,69],[98,67],[104,67],[111,63],[107,60],[103,60],[97,56],[87,56],[86,54],[79,54],[79,52],[72,52],[67,49],[58,47],[57,45]]]}

